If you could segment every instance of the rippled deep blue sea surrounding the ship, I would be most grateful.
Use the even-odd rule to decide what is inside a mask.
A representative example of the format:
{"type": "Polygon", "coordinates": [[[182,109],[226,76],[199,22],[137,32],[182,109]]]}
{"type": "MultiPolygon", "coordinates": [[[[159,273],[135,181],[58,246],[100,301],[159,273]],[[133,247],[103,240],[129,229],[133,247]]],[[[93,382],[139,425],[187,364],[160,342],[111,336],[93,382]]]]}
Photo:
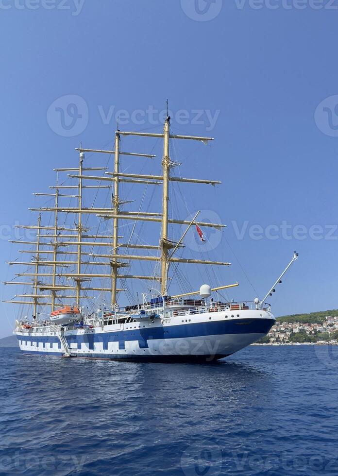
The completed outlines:
{"type": "Polygon", "coordinates": [[[215,364],[0,349],[1,475],[337,475],[338,346],[215,364]]]}

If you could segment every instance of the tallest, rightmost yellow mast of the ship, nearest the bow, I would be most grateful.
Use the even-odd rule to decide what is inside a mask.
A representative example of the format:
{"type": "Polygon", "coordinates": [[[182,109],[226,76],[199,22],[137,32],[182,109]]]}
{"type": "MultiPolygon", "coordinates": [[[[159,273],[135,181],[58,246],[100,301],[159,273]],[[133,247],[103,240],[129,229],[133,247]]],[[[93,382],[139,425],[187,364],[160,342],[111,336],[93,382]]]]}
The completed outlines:
{"type": "Polygon", "coordinates": [[[169,172],[170,172],[170,157],[169,157],[169,137],[170,137],[170,117],[168,116],[164,123],[163,131],[163,204],[162,204],[162,237],[161,237],[161,294],[167,294],[167,278],[169,271],[168,261],[168,207],[169,207],[169,172]]]}

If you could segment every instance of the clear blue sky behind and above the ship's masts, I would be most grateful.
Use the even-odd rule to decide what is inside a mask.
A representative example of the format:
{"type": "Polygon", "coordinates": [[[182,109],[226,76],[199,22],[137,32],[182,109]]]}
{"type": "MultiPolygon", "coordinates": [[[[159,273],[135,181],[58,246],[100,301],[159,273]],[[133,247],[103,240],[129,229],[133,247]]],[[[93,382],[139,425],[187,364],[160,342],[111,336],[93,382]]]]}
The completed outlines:
{"type": "MultiPolygon", "coordinates": [[[[89,147],[111,142],[118,109],[129,116],[143,111],[134,112],[122,130],[153,127],[150,120],[160,130],[149,106],[162,110],[169,98],[174,132],[217,139],[212,153],[202,144],[193,147],[198,152],[183,174],[222,180],[217,203],[209,189],[191,193],[228,224],[226,238],[260,297],[297,250],[299,261],[271,300],[274,313],[338,307],[338,230],[332,228],[336,239],[328,239],[325,229],[338,223],[337,98],[320,105],[315,120],[321,101],[338,94],[336,10],[312,3],[298,9],[291,0],[272,1],[276,9],[239,0],[200,0],[197,6],[192,0],[0,3],[2,235],[15,221],[32,222],[32,191],[53,182],[53,167],[77,160],[73,150],[80,140],[89,147]],[[54,116],[47,114],[68,95],[80,96],[88,108],[77,103],[84,131],[76,136],[69,123],[60,129],[55,107],[54,116]],[[180,109],[187,123],[179,123],[180,109]],[[203,112],[201,118],[194,110],[203,112]],[[137,122],[142,114],[144,124],[137,122]],[[208,114],[217,115],[215,124],[208,114]],[[196,119],[202,124],[195,125],[196,119]],[[246,221],[238,239],[236,229],[246,221]],[[305,238],[285,239],[280,231],[268,239],[266,227],[283,221],[291,234],[304,225],[305,238]],[[263,227],[262,239],[253,239],[252,225],[263,227]],[[320,239],[309,236],[312,225],[323,227],[320,239]]],[[[0,245],[1,263],[16,257],[16,245],[4,239],[0,245]]],[[[241,284],[232,296],[253,299],[234,255],[228,249],[221,255],[234,263],[226,281],[241,284]]],[[[0,272],[2,281],[15,271],[0,264],[0,272]]],[[[1,297],[16,291],[1,287],[1,297]]],[[[6,316],[11,323],[14,316],[11,306],[1,307],[0,337],[11,331],[6,316]]]]}

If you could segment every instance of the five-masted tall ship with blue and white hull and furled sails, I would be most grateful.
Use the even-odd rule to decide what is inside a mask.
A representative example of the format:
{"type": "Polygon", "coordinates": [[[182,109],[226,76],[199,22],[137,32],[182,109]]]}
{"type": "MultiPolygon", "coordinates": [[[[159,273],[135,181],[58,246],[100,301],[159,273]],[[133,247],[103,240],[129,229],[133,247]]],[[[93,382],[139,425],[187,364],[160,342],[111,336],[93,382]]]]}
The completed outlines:
{"type": "MultiPolygon", "coordinates": [[[[55,185],[48,193],[34,193],[48,206],[31,208],[37,212],[35,223],[17,225],[34,236],[36,232],[36,238],[11,240],[24,248],[19,253],[30,256],[9,262],[21,269],[4,283],[23,289],[4,301],[20,306],[14,333],[22,352],[129,361],[213,361],[270,331],[275,318],[265,299],[298,255],[263,300],[234,302],[228,289],[238,283],[222,284],[223,273],[220,277],[215,272],[231,263],[202,259],[203,250],[199,253],[199,246],[207,244],[204,230],[220,233],[225,225],[200,221],[198,209],[186,220],[174,216],[180,211],[174,199],[186,204],[190,184],[221,183],[182,177],[182,164],[172,159],[176,143],[212,140],[172,134],[168,116],[161,133],[124,132],[117,127],[113,150],[86,149],[81,144],[75,167],[54,169],[55,185]],[[161,162],[152,153],[126,152],[129,141],[143,144],[149,138],[163,142],[161,162]],[[91,161],[103,158],[104,164],[90,167],[88,156],[91,161]],[[147,162],[157,174],[149,172],[147,162]],[[141,173],[144,169],[148,173],[141,173]],[[189,250],[193,257],[185,257],[186,238],[192,232],[200,244],[189,250]],[[201,266],[203,273],[198,271],[201,266]],[[188,271],[182,272],[182,267],[188,271]],[[192,289],[198,276],[199,289],[192,289]]],[[[203,202],[201,193],[196,197],[203,202]]]]}

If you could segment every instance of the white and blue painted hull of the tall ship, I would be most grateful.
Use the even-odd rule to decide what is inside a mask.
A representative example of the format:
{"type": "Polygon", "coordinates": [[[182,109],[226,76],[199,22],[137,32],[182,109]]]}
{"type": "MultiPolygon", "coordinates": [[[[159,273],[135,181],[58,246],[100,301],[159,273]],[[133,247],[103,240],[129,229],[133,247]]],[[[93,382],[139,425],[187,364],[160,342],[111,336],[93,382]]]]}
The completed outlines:
{"type": "MultiPolygon", "coordinates": [[[[66,330],[72,356],[125,360],[216,360],[227,357],[265,336],[275,319],[268,311],[239,311],[171,317],[149,322],[66,330]]],[[[67,349],[60,331],[36,328],[16,331],[26,354],[63,356],[67,349]],[[46,330],[44,332],[44,330],[46,330]]]]}

